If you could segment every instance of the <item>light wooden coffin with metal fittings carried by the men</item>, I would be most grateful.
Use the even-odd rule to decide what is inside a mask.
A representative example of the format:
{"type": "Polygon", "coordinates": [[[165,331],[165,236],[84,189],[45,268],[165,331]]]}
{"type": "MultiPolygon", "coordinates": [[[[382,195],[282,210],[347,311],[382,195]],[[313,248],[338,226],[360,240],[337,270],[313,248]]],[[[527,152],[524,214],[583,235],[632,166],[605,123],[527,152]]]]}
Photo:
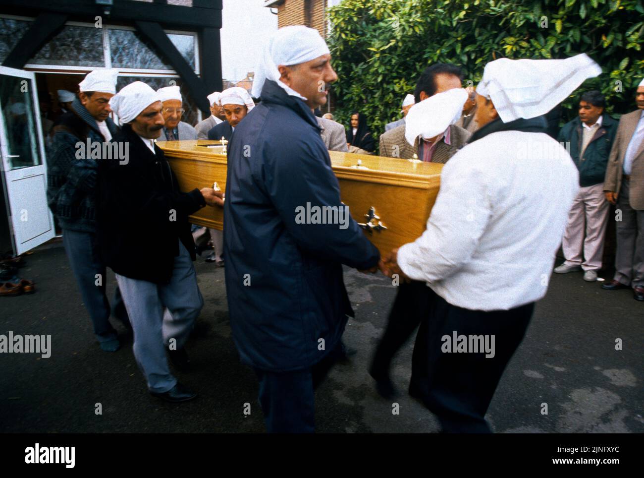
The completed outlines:
{"type": "MultiPolygon", "coordinates": [[[[182,191],[213,187],[225,191],[226,155],[218,141],[159,141],[182,191]],[[211,145],[207,148],[199,145],[211,145]]],[[[440,186],[442,164],[329,151],[341,199],[380,250],[413,242],[425,230],[440,186]]],[[[305,205],[303,205],[305,206],[305,205]]],[[[223,209],[204,207],[193,224],[223,228],[223,209]]]]}

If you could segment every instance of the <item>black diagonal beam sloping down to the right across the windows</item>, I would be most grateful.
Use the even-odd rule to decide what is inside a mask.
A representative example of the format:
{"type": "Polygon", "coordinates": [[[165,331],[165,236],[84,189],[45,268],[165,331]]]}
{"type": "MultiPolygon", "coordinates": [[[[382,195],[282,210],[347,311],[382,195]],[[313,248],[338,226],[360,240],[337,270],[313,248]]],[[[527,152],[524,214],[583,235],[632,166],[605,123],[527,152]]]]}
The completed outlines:
{"type": "Polygon", "coordinates": [[[194,73],[193,67],[185,61],[183,55],[167,37],[160,24],[149,21],[135,21],[137,30],[152,44],[155,53],[164,57],[175,68],[175,71],[185,82],[194,102],[204,113],[210,111],[210,104],[206,98],[212,91],[205,88],[204,82],[194,73]]]}

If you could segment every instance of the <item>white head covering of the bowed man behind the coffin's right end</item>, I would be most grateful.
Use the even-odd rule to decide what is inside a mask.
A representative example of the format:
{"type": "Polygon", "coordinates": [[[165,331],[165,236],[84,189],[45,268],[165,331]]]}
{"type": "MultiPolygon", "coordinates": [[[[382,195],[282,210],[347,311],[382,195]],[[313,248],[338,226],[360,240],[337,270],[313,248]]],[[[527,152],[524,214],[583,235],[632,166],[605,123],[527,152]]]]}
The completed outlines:
{"type": "Polygon", "coordinates": [[[405,118],[404,137],[407,142],[413,145],[419,135],[424,139],[440,135],[459,120],[467,99],[467,91],[453,88],[413,105],[405,118]]]}

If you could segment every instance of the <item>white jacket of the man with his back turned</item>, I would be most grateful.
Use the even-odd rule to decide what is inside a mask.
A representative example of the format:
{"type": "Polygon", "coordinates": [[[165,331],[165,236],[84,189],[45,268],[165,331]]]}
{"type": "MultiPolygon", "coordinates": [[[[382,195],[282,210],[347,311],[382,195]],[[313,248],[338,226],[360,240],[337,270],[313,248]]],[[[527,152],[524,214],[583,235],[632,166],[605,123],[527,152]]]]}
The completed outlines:
{"type": "Polygon", "coordinates": [[[572,158],[545,133],[491,133],[443,167],[427,229],[398,263],[465,309],[539,300],[578,188],[572,158]]]}

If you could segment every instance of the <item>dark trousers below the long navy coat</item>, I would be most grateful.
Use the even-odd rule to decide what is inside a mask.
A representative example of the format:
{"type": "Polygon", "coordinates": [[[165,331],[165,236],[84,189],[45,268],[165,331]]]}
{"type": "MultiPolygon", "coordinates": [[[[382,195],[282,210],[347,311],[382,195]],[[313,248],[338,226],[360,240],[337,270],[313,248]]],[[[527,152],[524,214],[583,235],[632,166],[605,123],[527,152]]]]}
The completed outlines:
{"type": "Polygon", "coordinates": [[[270,372],[255,368],[260,404],[269,433],[315,432],[315,390],[343,356],[341,341],[325,358],[305,370],[270,372]]]}

